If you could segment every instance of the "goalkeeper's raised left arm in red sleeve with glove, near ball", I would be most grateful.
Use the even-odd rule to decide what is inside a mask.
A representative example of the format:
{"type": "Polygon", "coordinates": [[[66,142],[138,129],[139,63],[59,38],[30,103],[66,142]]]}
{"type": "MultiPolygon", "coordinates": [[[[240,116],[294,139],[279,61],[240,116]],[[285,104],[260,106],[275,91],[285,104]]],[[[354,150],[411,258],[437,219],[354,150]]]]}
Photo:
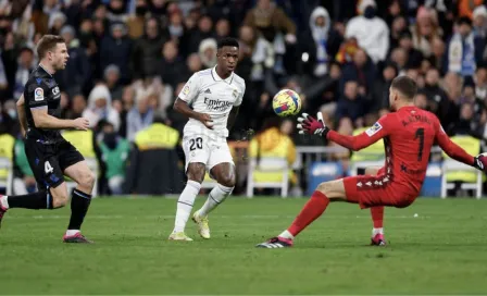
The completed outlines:
{"type": "Polygon", "coordinates": [[[380,123],[384,120],[384,118],[380,119],[380,121],[373,127],[360,135],[347,136],[329,130],[325,125],[321,112],[317,113],[316,119],[307,113],[302,113],[302,115],[298,118],[298,130],[300,134],[319,135],[335,141],[347,149],[359,151],[387,136],[387,130],[383,126],[384,124],[380,123]]]}

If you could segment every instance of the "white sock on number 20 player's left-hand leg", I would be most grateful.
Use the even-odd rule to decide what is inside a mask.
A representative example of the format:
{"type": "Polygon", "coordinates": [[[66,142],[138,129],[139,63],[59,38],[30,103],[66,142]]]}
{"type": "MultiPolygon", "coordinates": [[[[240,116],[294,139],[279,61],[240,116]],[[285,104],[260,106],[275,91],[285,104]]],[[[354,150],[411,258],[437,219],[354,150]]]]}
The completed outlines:
{"type": "Polygon", "coordinates": [[[174,222],[174,231],[173,232],[184,232],[186,227],[186,222],[188,222],[189,215],[191,214],[192,205],[195,203],[195,199],[201,189],[201,184],[188,180],[186,183],[186,187],[179,196],[177,200],[177,210],[176,210],[176,221],[174,222]]]}

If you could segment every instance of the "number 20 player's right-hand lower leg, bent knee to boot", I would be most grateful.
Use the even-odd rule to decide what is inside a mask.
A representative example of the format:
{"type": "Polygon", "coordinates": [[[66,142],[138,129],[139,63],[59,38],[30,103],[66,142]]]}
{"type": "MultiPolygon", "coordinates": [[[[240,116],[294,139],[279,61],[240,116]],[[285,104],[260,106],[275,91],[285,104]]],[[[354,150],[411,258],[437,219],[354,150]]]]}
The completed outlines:
{"type": "Polygon", "coordinates": [[[234,190],[235,165],[229,162],[216,164],[211,169],[211,175],[218,184],[210,192],[203,207],[195,212],[192,221],[198,224],[198,233],[203,238],[210,238],[208,214],[221,205],[234,190]]]}

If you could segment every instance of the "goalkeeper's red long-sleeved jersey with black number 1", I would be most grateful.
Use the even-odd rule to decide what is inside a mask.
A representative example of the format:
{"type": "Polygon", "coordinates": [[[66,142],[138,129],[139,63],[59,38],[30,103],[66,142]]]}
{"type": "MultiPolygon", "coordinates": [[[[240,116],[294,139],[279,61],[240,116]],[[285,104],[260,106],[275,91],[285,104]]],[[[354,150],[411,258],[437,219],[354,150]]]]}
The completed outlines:
{"type": "Polygon", "coordinates": [[[452,143],[435,114],[416,107],[403,107],[380,118],[358,136],[330,131],[327,138],[351,150],[360,150],[384,138],[388,181],[419,193],[423,185],[432,146],[437,143],[451,158],[473,165],[474,157],[452,143]]]}

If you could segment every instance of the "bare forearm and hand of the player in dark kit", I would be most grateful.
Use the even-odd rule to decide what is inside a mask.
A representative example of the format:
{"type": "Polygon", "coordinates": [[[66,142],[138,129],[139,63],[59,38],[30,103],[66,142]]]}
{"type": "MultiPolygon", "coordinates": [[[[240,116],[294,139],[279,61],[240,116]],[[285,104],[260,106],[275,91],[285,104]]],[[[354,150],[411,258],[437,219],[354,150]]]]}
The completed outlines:
{"type": "Polygon", "coordinates": [[[34,124],[38,128],[47,130],[62,130],[62,128],[75,128],[79,131],[87,131],[89,127],[89,121],[84,118],[75,120],[60,120],[48,114],[48,108],[30,109],[33,113],[34,124]]]}

